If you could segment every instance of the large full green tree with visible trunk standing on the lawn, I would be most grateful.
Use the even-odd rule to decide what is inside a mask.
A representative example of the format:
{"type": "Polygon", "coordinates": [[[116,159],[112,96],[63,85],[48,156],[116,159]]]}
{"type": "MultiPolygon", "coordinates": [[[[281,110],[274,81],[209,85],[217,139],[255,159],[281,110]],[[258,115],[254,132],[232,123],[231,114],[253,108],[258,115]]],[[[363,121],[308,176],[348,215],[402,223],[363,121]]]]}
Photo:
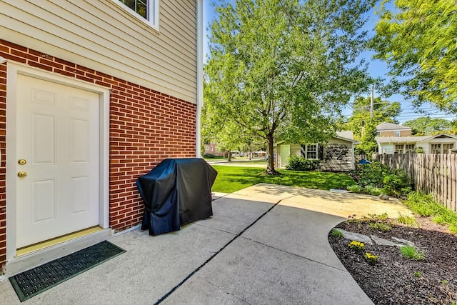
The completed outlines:
{"type": "Polygon", "coordinates": [[[356,58],[366,46],[371,0],[236,0],[216,7],[211,24],[208,91],[217,116],[268,143],[325,141],[332,119],[366,86],[356,58]]]}

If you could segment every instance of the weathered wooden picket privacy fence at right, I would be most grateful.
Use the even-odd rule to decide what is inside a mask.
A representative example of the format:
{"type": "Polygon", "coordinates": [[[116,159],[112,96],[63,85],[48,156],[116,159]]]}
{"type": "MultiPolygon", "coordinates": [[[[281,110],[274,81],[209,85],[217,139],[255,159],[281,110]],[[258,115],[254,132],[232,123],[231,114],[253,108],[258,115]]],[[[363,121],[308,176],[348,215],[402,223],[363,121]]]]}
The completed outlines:
{"type": "Polygon", "coordinates": [[[457,154],[378,154],[376,161],[403,169],[417,191],[457,211],[457,154]]]}

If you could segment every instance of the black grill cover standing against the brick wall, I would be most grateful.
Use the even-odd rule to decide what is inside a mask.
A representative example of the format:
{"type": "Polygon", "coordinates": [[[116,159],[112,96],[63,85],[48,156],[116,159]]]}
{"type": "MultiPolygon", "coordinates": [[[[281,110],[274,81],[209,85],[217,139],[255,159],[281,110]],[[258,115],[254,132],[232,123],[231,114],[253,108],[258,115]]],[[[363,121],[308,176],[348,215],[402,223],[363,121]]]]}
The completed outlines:
{"type": "Polygon", "coordinates": [[[217,171],[204,159],[165,159],[136,179],[144,200],[141,230],[158,235],[213,215],[211,187],[217,171]]]}

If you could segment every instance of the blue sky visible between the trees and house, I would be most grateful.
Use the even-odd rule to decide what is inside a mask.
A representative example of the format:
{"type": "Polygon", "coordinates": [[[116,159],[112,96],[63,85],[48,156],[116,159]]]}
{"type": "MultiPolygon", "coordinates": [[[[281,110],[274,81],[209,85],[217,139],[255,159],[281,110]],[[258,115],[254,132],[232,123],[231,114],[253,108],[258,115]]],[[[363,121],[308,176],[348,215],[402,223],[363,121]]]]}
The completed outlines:
{"type": "MultiPolygon", "coordinates": [[[[214,0],[214,2],[219,3],[218,0],[214,0]]],[[[378,9],[378,7],[375,8],[375,10],[378,9]]],[[[366,29],[370,31],[370,34],[374,34],[374,28],[376,26],[376,23],[378,21],[378,16],[374,13],[374,11],[370,11],[368,22],[366,24],[366,29]]],[[[211,21],[213,21],[216,18],[216,14],[214,13],[214,7],[211,6],[211,1],[210,0],[205,0],[204,1],[204,27],[205,27],[205,33],[204,33],[204,56],[206,59],[207,53],[208,53],[208,36],[211,35],[211,30],[209,30],[209,25],[211,24],[211,21]]],[[[383,79],[390,79],[390,77],[387,75],[388,74],[388,67],[385,62],[372,59],[371,56],[373,53],[371,51],[364,51],[361,56],[366,59],[369,63],[369,68],[368,72],[372,77],[381,77],[383,79]]],[[[374,91],[374,96],[376,97],[376,88],[374,91]]],[[[368,95],[367,95],[368,97],[368,95]]],[[[387,98],[388,101],[398,101],[401,104],[401,109],[402,112],[400,116],[397,116],[397,120],[400,124],[403,124],[405,121],[409,121],[411,119],[417,119],[418,117],[424,116],[424,114],[418,113],[418,111],[415,111],[413,106],[411,105],[411,102],[406,101],[403,96],[400,94],[395,94],[393,96],[390,96],[387,98]]],[[[436,109],[435,106],[431,104],[423,104],[421,106],[421,109],[423,111],[426,111],[427,114],[431,118],[441,118],[441,119],[453,119],[451,116],[444,114],[443,112],[439,111],[436,109]]],[[[345,109],[343,109],[343,116],[351,116],[352,108],[351,104],[346,106],[345,109]]]]}

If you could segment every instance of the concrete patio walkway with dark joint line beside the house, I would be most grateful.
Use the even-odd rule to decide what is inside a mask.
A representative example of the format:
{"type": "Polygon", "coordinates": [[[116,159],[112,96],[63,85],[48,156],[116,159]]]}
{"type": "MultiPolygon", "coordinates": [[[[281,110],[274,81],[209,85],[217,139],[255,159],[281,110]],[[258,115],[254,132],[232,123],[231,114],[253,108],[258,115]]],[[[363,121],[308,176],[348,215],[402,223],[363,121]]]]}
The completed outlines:
{"type": "MultiPolygon", "coordinates": [[[[109,241],[126,253],[24,304],[372,304],[328,232],[353,214],[409,213],[373,196],[258,184],[218,194],[214,216],[180,231],[109,241]]],[[[20,304],[9,281],[0,304],[20,304]]]]}

